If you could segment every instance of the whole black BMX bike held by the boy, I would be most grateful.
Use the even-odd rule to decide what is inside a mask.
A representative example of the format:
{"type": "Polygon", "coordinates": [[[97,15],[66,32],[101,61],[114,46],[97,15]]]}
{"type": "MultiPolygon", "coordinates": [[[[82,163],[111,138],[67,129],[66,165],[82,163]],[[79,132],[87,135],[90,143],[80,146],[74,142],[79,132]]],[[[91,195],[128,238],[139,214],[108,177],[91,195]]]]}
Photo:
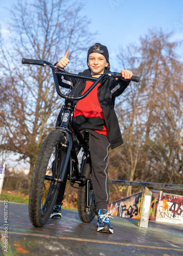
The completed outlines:
{"type": "MultiPolygon", "coordinates": [[[[45,60],[22,58],[22,64],[49,66],[52,69],[56,92],[65,99],[62,106],[61,124],[55,127],[45,138],[37,157],[29,197],[30,221],[35,227],[42,227],[47,223],[55,205],[59,188],[68,179],[71,186],[78,188],[79,217],[81,221],[89,223],[97,215],[92,187],[91,160],[88,147],[89,135],[87,131],[84,131],[84,136],[82,136],[73,120],[75,102],[86,97],[104,77],[124,78],[121,77],[121,73],[117,72],[104,73],[99,78],[95,78],[65,73],[62,69],[56,71],[56,67],[45,60]],[[63,94],[58,83],[60,76],[90,80],[94,83],[81,96],[63,94]],[[82,148],[80,164],[76,147],[82,148]]],[[[132,76],[130,80],[138,82],[139,77],[132,76]]]]}

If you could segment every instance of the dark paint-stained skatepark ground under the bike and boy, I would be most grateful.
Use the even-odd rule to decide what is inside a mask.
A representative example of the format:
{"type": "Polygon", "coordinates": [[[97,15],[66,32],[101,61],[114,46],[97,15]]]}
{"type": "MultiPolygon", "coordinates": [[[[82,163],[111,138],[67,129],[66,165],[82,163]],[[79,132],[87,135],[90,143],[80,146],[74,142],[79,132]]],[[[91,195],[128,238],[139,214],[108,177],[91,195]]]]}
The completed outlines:
{"type": "Polygon", "coordinates": [[[61,220],[49,219],[36,228],[27,204],[8,202],[5,208],[0,201],[0,255],[183,255],[183,225],[149,221],[148,228],[139,228],[136,219],[110,221],[114,233],[101,233],[96,230],[97,217],[83,223],[77,211],[62,209],[61,220]]]}

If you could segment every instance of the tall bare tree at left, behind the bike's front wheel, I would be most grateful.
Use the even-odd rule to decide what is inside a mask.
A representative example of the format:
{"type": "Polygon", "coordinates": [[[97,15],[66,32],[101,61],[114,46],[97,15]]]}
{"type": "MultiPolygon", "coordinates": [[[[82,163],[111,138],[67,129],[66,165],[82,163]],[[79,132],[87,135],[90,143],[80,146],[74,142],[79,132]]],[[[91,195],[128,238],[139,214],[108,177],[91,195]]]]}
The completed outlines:
{"type": "Polygon", "coordinates": [[[29,158],[30,175],[49,127],[54,126],[62,101],[55,93],[49,68],[21,65],[21,58],[52,63],[70,51],[72,71],[82,67],[83,52],[91,40],[82,4],[65,0],[18,1],[11,9],[10,37],[1,36],[0,67],[3,98],[2,150],[29,158]],[[11,46],[11,47],[10,47],[11,46]],[[5,90],[6,88],[6,90],[5,90]]]}

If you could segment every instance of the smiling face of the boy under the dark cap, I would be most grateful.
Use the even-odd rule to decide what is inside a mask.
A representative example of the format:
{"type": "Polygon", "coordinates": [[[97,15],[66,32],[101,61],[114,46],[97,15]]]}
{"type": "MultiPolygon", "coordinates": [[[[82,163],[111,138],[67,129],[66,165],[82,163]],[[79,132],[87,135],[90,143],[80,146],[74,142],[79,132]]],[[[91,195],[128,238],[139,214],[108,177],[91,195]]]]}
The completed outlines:
{"type": "Polygon", "coordinates": [[[102,54],[97,52],[89,54],[87,64],[91,70],[91,75],[103,74],[105,67],[108,66],[106,58],[102,54]]]}

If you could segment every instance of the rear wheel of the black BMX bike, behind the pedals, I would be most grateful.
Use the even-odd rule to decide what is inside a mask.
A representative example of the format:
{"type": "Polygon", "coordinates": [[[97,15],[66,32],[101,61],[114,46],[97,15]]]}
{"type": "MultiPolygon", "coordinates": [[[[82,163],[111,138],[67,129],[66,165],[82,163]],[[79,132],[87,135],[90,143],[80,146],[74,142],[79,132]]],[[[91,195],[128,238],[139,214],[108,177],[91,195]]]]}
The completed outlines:
{"type": "MultiPolygon", "coordinates": [[[[86,178],[91,178],[90,163],[86,163],[83,171],[83,176],[85,176],[86,178]]],[[[90,182],[88,185],[90,186],[89,190],[87,187],[87,183],[84,185],[79,185],[78,188],[78,214],[81,221],[85,223],[91,222],[97,215],[94,191],[90,182]],[[89,200],[89,207],[87,206],[87,198],[89,200]]]]}

